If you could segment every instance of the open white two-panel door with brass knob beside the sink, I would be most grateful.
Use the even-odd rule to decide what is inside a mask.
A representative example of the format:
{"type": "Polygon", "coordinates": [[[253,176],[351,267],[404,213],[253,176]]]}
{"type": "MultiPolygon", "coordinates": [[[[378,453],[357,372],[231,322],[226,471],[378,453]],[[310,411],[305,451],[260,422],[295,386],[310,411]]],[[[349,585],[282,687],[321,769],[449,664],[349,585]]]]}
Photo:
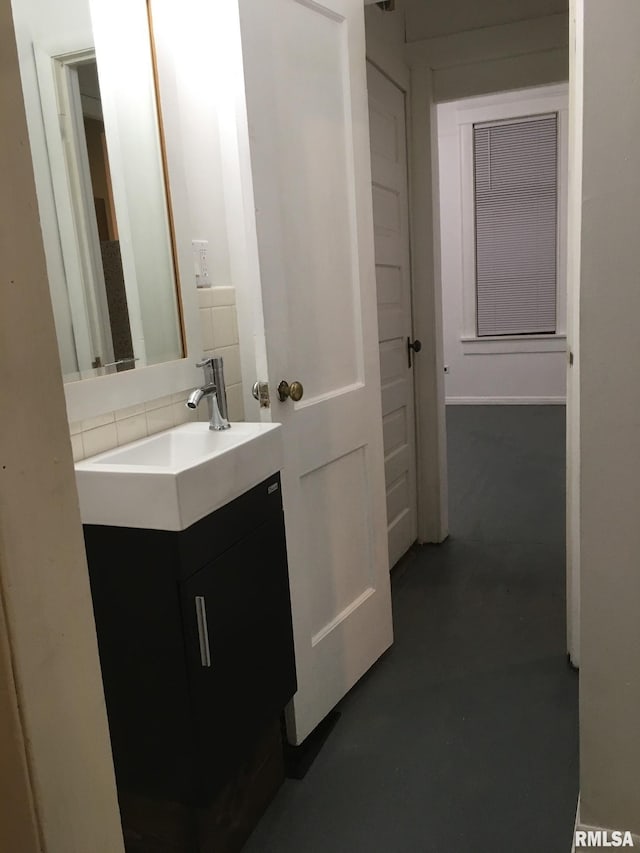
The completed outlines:
{"type": "Polygon", "coordinates": [[[392,642],[363,5],[240,11],[300,743],[392,642]],[[303,398],[279,402],[281,380],[303,398]]]}

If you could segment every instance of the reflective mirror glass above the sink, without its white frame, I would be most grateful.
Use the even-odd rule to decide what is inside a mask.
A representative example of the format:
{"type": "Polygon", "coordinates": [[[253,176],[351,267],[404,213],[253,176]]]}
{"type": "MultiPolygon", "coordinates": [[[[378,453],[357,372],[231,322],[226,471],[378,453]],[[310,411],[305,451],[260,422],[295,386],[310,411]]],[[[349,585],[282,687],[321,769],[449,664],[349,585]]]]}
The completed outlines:
{"type": "Polygon", "coordinates": [[[34,168],[39,201],[49,191],[55,210],[43,236],[65,381],[181,359],[146,0],[14,5],[32,29],[38,6],[50,23],[32,43],[46,139],[46,163],[36,150],[34,168]],[[73,11],[84,32],[60,50],[73,11]]]}

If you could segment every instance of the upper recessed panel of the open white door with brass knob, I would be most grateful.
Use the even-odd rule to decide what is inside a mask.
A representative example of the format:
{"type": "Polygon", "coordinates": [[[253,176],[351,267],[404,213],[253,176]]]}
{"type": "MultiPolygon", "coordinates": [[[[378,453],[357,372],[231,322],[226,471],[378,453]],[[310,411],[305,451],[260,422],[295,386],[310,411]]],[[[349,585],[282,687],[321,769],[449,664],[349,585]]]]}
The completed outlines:
{"type": "MultiPolygon", "coordinates": [[[[275,9],[272,14],[277,15],[275,9]]],[[[280,130],[293,131],[279,135],[285,166],[280,180],[287,237],[283,260],[287,278],[298,282],[288,294],[289,333],[308,404],[358,382],[361,375],[361,341],[354,335],[359,283],[352,263],[353,154],[345,144],[351,121],[348,54],[343,22],[320,6],[289,3],[283,25],[286,49],[277,71],[288,79],[277,92],[276,123],[280,130]],[[328,284],[337,282],[339,287],[329,285],[329,299],[328,284]],[[340,346],[323,346],[328,343],[323,332],[340,346]]]]}

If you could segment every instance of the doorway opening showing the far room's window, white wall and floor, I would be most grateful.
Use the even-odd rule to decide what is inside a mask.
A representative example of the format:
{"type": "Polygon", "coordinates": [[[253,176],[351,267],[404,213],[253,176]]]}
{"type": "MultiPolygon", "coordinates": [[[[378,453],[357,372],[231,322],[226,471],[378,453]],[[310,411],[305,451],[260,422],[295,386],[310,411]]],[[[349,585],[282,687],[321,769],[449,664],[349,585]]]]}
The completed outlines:
{"type": "Polygon", "coordinates": [[[554,541],[564,588],[568,86],[440,103],[436,118],[450,533],[554,541]]]}

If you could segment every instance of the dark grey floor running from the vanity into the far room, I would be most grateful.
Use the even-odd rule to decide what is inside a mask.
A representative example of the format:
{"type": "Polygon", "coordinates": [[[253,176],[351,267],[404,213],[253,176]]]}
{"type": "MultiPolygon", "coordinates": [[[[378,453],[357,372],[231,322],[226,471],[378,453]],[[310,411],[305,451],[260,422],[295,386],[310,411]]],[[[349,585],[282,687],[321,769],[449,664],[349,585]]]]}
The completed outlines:
{"type": "Polygon", "coordinates": [[[393,575],[395,644],[248,853],[568,853],[564,407],[447,411],[450,530],[393,575]]]}

